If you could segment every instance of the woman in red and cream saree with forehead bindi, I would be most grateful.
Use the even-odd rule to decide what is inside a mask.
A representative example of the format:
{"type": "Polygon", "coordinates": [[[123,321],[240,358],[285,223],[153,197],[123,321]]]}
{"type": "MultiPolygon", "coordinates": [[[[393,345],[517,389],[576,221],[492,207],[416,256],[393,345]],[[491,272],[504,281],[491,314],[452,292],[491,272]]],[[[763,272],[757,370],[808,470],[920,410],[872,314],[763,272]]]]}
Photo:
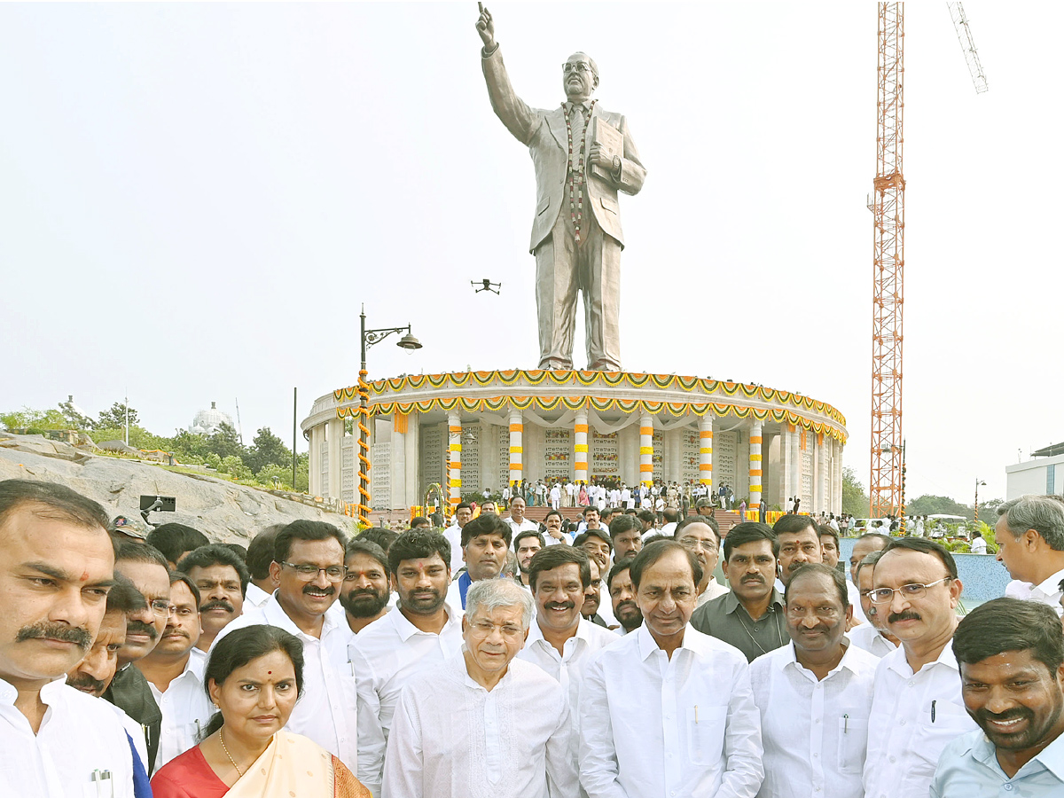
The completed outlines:
{"type": "Polygon", "coordinates": [[[303,689],[303,644],[250,626],[214,647],[203,684],[218,712],[194,748],[155,774],[155,798],[369,798],[316,743],[284,731],[303,689]]]}

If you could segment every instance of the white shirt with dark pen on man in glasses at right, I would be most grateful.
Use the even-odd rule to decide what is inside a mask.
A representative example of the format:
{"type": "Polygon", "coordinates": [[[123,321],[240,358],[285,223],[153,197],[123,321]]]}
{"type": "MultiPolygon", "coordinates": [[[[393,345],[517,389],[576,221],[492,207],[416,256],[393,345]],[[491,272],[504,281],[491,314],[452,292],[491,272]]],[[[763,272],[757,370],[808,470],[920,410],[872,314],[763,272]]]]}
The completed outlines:
{"type": "Polygon", "coordinates": [[[943,749],[978,728],[964,710],[951,643],[915,674],[904,646],[879,661],[868,728],[867,798],[926,798],[943,749]]]}

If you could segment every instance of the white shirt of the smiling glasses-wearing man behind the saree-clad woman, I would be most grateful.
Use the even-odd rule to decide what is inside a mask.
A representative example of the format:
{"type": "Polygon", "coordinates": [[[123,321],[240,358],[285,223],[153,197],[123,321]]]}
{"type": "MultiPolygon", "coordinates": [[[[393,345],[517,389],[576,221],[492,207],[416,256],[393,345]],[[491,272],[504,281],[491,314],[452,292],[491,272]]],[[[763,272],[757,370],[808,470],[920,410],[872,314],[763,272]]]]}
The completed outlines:
{"type": "MultiPolygon", "coordinates": [[[[347,659],[351,629],[331,613],[322,616],[321,636],[305,634],[270,596],[263,606],[248,610],[222,629],[211,644],[230,632],[255,624],[279,627],[303,642],[303,695],[285,726],[335,754],[352,771],[359,767],[358,696],[354,671],[347,659]]],[[[366,785],[370,789],[373,787],[366,785]]],[[[375,793],[376,795],[376,793],[375,793]]]]}

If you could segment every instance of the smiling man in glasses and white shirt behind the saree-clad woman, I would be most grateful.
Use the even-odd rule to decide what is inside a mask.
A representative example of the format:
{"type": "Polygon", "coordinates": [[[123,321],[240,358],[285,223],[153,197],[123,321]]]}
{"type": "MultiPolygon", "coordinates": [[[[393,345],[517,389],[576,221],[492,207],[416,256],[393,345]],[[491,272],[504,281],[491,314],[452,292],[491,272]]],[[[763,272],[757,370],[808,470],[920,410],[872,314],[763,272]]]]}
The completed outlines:
{"type": "MultiPolygon", "coordinates": [[[[270,576],[277,592],[219,632],[255,624],[280,627],[303,643],[303,694],[285,727],[339,758],[352,771],[359,766],[358,696],[348,661],[351,630],[328,610],[344,587],[344,533],[323,521],[293,521],[277,534],[270,576]]],[[[368,785],[377,794],[376,786],[368,785]]]]}

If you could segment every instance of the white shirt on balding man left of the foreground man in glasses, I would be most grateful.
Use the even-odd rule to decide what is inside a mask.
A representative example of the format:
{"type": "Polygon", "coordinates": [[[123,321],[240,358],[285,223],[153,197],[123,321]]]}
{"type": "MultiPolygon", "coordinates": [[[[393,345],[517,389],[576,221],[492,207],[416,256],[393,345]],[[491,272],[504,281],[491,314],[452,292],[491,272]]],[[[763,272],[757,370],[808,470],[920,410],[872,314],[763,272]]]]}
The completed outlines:
{"type": "Polygon", "coordinates": [[[794,643],[750,663],[765,747],[758,798],[862,798],[878,664],[878,656],[851,645],[818,680],[798,663],[794,643]]]}

